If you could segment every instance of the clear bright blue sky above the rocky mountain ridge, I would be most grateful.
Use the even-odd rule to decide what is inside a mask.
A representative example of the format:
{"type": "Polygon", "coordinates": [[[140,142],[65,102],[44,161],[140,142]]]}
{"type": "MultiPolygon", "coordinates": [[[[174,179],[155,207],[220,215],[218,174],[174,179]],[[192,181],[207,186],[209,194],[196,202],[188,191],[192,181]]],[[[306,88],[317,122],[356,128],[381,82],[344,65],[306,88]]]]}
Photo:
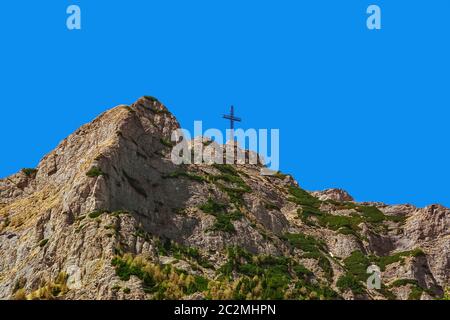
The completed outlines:
{"type": "Polygon", "coordinates": [[[187,128],[225,129],[231,104],[243,128],[279,128],[306,189],[450,206],[449,15],[448,0],[2,1],[0,176],[153,95],[187,128]]]}

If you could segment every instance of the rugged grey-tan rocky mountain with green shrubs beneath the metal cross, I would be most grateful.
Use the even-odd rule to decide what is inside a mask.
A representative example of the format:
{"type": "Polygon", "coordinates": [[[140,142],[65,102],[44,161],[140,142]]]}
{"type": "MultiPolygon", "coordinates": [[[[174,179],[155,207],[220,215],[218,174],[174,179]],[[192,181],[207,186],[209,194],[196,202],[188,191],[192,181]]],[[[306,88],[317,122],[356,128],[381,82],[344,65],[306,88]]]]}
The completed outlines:
{"type": "Polygon", "coordinates": [[[308,193],[260,165],[177,166],[178,127],[141,98],[0,180],[0,298],[431,299],[450,286],[447,208],[308,193]],[[365,285],[372,264],[380,290],[365,285]]]}

